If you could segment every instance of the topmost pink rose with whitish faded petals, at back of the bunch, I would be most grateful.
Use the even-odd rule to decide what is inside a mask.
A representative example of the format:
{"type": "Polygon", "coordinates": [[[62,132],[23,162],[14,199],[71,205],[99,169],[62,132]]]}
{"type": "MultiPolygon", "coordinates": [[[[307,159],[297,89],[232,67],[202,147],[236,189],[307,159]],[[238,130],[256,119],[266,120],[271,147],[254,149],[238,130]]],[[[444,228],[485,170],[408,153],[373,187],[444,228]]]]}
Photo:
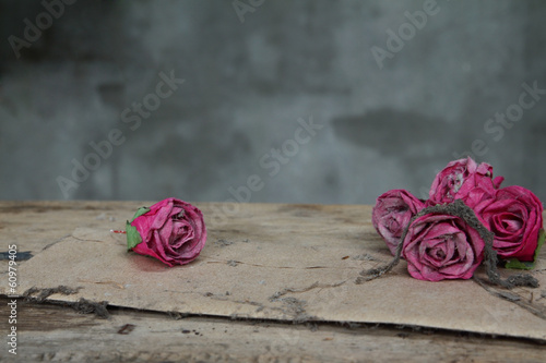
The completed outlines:
{"type": "Polygon", "coordinates": [[[436,176],[427,205],[463,199],[473,208],[478,203],[492,198],[503,179],[497,177],[492,180],[492,167],[486,162],[477,165],[471,157],[450,161],[436,176]]]}

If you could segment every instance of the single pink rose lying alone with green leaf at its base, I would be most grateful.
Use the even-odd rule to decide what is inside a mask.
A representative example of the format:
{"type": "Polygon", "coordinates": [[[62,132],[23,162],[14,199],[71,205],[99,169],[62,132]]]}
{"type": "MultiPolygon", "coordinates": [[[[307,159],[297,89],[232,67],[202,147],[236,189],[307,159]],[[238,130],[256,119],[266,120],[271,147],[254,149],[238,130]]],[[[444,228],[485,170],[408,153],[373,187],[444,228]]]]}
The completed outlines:
{"type": "Polygon", "coordinates": [[[201,210],[176,198],[140,208],[126,230],[129,250],[170,267],[193,261],[206,241],[201,210]]]}

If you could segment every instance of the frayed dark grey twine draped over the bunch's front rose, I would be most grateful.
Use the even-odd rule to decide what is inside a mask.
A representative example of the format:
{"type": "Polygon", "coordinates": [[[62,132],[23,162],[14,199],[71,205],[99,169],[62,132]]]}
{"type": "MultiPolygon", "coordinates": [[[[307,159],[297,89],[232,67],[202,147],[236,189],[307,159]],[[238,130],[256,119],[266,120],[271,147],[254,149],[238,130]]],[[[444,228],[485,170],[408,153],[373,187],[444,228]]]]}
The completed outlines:
{"type": "Polygon", "coordinates": [[[508,277],[505,280],[501,279],[499,270],[497,269],[497,263],[498,263],[497,251],[492,249],[492,239],[495,234],[487,228],[485,228],[484,225],[482,225],[482,222],[477,219],[476,215],[474,214],[474,210],[467,205],[465,205],[464,202],[461,199],[456,199],[453,203],[437,204],[435,206],[422,209],[410,220],[410,223],[407,223],[407,226],[404,228],[404,232],[402,233],[402,237],[400,238],[399,244],[396,246],[396,254],[394,255],[394,258],[387,265],[377,268],[371,268],[369,270],[363,270],[360,273],[361,277],[358,277],[355,282],[364,283],[366,281],[373,280],[389,273],[394,266],[396,266],[402,255],[403,242],[407,234],[410,226],[414,222],[415,219],[431,213],[446,214],[459,217],[479,233],[479,237],[485,242],[484,263],[489,281],[507,289],[511,289],[517,286],[526,286],[531,288],[538,287],[538,281],[529,274],[515,274],[508,277]]]}

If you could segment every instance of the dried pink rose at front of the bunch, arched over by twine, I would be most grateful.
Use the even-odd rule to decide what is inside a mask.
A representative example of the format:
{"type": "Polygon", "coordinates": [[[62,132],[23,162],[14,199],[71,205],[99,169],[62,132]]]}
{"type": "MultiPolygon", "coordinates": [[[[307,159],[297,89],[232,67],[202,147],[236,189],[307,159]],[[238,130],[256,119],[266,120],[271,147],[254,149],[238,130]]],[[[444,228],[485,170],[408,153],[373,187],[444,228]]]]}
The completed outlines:
{"type": "Polygon", "coordinates": [[[485,242],[463,219],[441,214],[413,221],[402,255],[419,280],[470,279],[484,259],[485,242]]]}

